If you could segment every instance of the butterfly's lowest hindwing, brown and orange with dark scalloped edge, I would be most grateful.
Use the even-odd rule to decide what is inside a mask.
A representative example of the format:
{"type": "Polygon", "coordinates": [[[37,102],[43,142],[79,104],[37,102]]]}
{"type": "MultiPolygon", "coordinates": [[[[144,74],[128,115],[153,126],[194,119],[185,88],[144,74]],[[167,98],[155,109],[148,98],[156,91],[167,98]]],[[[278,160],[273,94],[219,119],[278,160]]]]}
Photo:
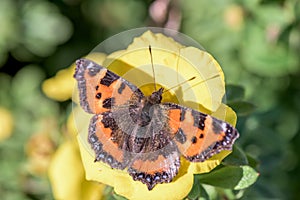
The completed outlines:
{"type": "Polygon", "coordinates": [[[169,132],[161,130],[153,137],[136,139],[142,139],[144,146],[141,152],[132,154],[128,172],[133,179],[146,184],[148,190],[171,182],[180,167],[180,153],[169,132]]]}

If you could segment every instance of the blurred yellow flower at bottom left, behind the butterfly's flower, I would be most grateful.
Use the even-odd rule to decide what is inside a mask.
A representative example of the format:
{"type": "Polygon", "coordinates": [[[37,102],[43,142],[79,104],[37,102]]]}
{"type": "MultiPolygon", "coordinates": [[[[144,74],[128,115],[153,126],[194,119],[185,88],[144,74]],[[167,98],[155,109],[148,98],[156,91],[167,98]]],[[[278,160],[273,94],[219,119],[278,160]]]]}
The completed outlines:
{"type": "Polygon", "coordinates": [[[100,200],[105,185],[85,179],[74,127],[71,114],[67,122],[68,133],[71,137],[59,146],[49,166],[53,196],[61,200],[100,200]]]}

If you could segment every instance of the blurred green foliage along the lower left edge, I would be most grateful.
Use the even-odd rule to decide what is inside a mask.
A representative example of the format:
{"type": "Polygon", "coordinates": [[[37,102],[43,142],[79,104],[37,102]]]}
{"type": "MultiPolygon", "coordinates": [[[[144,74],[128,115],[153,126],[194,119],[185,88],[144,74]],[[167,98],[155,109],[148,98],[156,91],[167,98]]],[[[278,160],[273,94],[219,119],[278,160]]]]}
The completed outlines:
{"type": "Polygon", "coordinates": [[[58,130],[51,125],[47,130],[45,122],[57,117],[58,105],[41,93],[40,84],[45,76],[37,66],[26,66],[13,78],[5,74],[0,77],[1,106],[9,108],[15,119],[12,136],[0,141],[1,198],[51,198],[48,180],[32,175],[27,145],[39,133],[49,133],[54,139],[58,130]]]}

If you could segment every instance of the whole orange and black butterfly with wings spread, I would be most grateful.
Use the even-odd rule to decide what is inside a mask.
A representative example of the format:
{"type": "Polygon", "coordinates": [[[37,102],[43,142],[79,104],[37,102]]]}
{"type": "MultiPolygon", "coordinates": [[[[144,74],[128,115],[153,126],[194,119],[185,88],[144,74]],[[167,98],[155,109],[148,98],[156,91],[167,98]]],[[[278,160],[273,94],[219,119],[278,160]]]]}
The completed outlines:
{"type": "Polygon", "coordinates": [[[87,59],[76,62],[80,104],[94,116],[88,141],[96,161],[127,168],[152,190],[177,175],[180,156],[203,162],[231,150],[239,133],[230,124],[175,103],[161,103],[163,88],[139,88],[87,59]]]}

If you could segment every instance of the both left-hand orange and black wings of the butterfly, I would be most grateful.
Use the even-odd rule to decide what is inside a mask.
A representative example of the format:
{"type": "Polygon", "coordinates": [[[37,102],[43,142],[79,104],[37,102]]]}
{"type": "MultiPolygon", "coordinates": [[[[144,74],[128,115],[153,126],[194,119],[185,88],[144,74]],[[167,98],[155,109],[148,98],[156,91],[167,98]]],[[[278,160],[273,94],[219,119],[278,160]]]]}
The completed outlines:
{"type": "Polygon", "coordinates": [[[133,84],[106,68],[87,59],[76,62],[74,75],[78,83],[81,107],[95,114],[89,125],[88,141],[95,152],[95,161],[107,163],[112,168],[124,169],[130,158],[125,148],[132,127],[129,119],[144,98],[133,84]],[[122,121],[119,126],[117,122],[122,121]],[[127,128],[127,129],[126,129],[127,128]]]}

